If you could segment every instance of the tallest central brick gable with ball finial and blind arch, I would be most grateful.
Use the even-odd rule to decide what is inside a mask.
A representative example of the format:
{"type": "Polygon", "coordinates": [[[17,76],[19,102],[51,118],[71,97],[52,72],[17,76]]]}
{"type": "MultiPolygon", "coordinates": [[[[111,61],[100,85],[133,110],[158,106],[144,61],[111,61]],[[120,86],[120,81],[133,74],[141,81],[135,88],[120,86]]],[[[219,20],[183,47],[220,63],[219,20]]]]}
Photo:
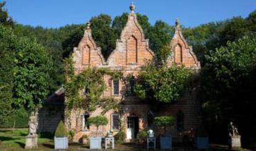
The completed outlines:
{"type": "Polygon", "coordinates": [[[116,49],[109,55],[107,63],[111,67],[140,67],[144,65],[145,60],[151,60],[154,57],[134,9],[135,6],[132,4],[130,6],[132,11],[121,32],[121,38],[117,39],[116,49]]]}

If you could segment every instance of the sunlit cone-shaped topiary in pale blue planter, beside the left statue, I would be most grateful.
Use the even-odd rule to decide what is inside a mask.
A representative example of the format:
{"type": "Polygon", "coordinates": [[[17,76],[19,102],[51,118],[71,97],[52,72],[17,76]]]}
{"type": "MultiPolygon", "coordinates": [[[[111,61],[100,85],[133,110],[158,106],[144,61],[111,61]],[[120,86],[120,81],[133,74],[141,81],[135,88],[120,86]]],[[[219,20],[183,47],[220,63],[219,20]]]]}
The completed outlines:
{"type": "Polygon", "coordinates": [[[67,129],[63,121],[60,121],[54,134],[54,149],[67,149],[68,143],[67,129]]]}

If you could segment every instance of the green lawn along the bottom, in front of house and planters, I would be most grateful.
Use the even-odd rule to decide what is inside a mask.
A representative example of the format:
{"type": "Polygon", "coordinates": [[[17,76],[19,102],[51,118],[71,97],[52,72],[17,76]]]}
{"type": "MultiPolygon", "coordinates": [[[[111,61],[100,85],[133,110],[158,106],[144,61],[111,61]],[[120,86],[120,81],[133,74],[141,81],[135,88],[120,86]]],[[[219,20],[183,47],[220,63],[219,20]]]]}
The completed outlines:
{"type": "MultiPolygon", "coordinates": [[[[25,150],[25,136],[28,134],[28,129],[0,129],[0,150],[9,151],[9,150],[25,150]]],[[[114,150],[147,150],[145,149],[145,144],[137,143],[124,143],[116,145],[114,150]]],[[[53,139],[48,138],[38,138],[38,149],[36,150],[53,150],[54,143],[53,139]]],[[[69,144],[69,149],[72,150],[89,150],[88,145],[83,144],[69,144]]],[[[184,149],[184,147],[174,147],[173,150],[193,150],[193,149],[184,149]]],[[[211,144],[209,150],[228,150],[226,145],[211,144]]],[[[238,149],[246,150],[246,149],[238,149]]],[[[253,149],[254,150],[254,149],[253,149]]]]}

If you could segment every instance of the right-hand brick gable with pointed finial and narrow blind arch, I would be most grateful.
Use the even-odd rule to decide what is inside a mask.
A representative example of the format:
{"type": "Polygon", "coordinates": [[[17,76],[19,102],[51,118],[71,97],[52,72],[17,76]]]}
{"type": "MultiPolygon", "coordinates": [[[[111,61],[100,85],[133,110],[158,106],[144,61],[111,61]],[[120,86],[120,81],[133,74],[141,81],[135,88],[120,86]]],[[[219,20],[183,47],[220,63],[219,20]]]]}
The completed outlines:
{"type": "Polygon", "coordinates": [[[177,65],[185,65],[186,67],[192,67],[199,69],[200,62],[197,60],[197,56],[192,51],[192,46],[187,44],[186,39],[181,33],[181,27],[179,25],[179,20],[176,20],[176,27],[173,39],[171,39],[171,50],[173,54],[169,58],[168,62],[176,63],[177,65]]]}

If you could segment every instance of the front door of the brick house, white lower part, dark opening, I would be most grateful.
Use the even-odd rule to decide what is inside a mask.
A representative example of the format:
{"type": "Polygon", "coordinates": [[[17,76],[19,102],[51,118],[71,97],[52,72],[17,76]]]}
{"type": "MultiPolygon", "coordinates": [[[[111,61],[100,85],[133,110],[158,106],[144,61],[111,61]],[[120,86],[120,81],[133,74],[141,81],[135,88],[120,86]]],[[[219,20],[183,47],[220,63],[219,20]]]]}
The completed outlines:
{"type": "Polygon", "coordinates": [[[137,130],[139,129],[139,119],[137,116],[127,117],[127,139],[135,139],[137,130]]]}

